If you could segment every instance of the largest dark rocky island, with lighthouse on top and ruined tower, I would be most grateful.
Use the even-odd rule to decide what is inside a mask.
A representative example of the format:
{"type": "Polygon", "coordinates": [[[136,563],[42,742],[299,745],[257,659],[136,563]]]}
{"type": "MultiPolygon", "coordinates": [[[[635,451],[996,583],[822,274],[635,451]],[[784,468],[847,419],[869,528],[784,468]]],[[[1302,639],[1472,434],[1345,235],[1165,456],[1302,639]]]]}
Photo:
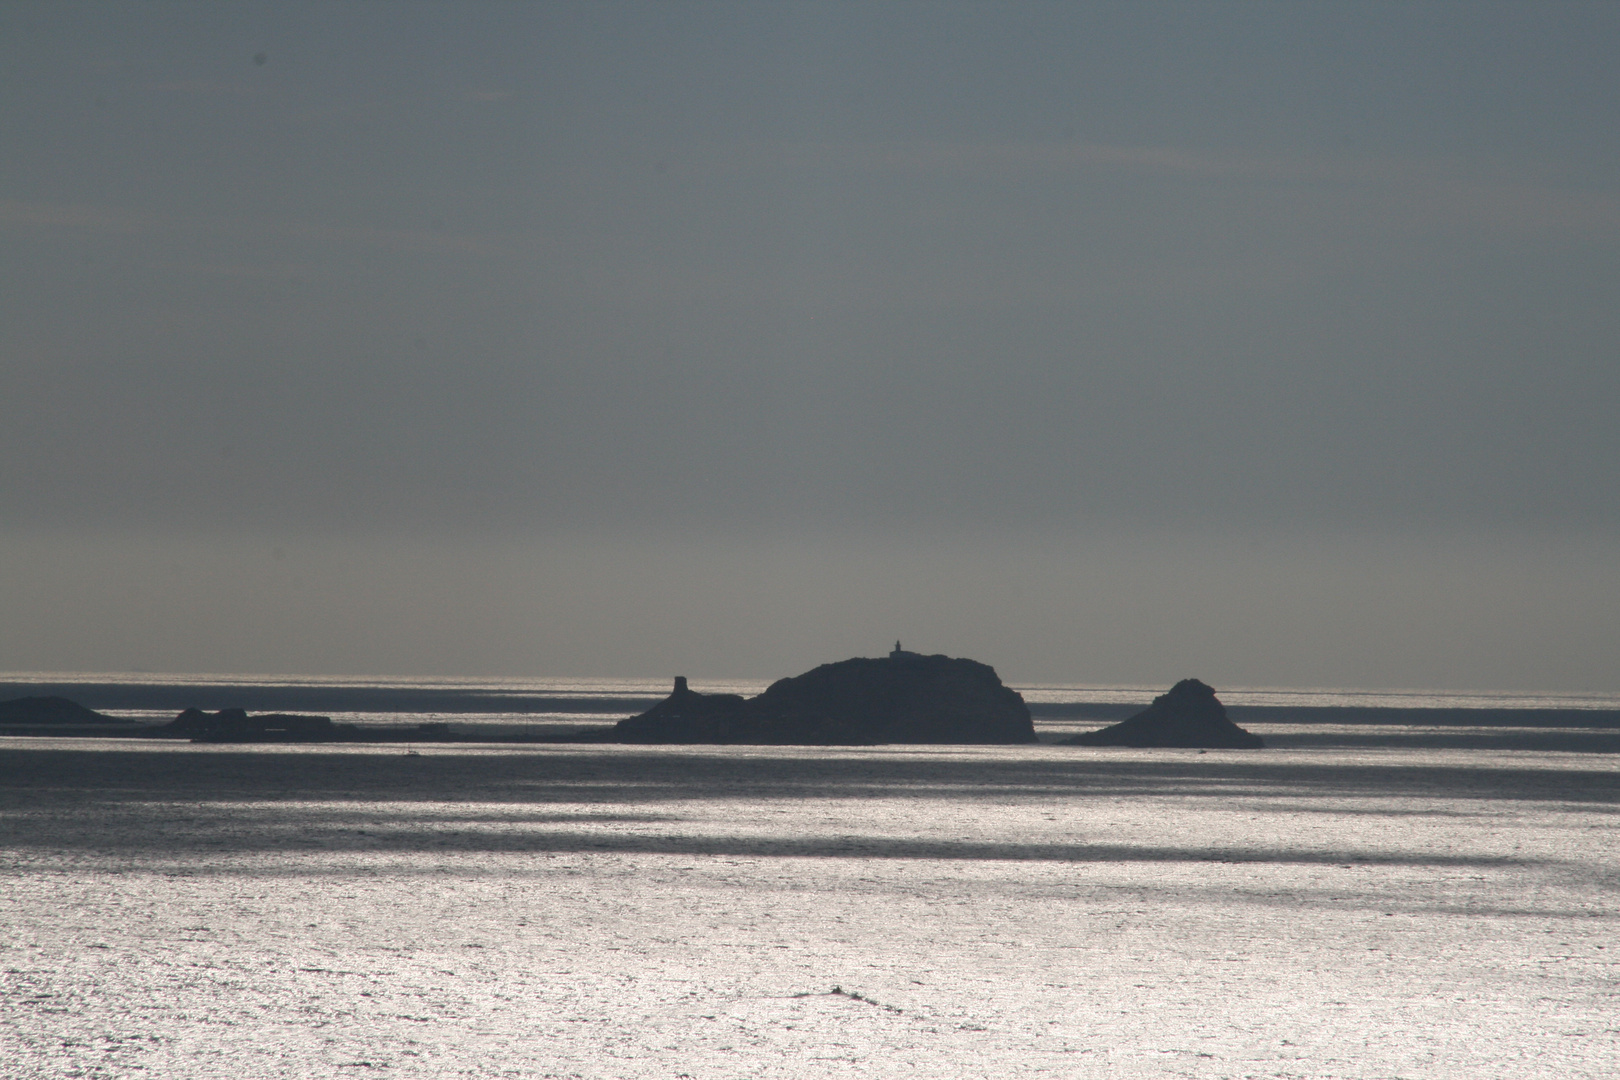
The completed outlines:
{"type": "Polygon", "coordinates": [[[870,746],[1034,743],[1029,706],[977,661],[894,651],[779,678],[757,698],[697,693],[684,677],[656,706],[591,742],[870,746]]]}

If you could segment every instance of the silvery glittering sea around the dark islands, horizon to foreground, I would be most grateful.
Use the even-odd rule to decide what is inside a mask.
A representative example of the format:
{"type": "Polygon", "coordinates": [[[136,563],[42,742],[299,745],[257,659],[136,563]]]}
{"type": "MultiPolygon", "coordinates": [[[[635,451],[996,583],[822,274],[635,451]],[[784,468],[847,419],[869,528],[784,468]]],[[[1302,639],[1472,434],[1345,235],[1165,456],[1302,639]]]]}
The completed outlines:
{"type": "MultiPolygon", "coordinates": [[[[760,682],[705,683],[757,693],[760,682]]],[[[1620,695],[1217,688],[1265,750],[512,742],[606,678],[0,677],[455,743],[0,733],[0,1077],[1612,1077],[1620,695]]]]}

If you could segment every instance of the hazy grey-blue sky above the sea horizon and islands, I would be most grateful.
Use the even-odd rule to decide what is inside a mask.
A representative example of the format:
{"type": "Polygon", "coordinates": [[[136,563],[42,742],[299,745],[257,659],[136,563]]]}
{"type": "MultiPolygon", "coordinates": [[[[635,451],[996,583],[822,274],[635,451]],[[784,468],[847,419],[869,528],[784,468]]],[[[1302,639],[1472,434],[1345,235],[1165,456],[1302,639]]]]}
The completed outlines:
{"type": "Polygon", "coordinates": [[[1620,6],[0,6],[0,669],[1620,690],[1620,6]]]}

